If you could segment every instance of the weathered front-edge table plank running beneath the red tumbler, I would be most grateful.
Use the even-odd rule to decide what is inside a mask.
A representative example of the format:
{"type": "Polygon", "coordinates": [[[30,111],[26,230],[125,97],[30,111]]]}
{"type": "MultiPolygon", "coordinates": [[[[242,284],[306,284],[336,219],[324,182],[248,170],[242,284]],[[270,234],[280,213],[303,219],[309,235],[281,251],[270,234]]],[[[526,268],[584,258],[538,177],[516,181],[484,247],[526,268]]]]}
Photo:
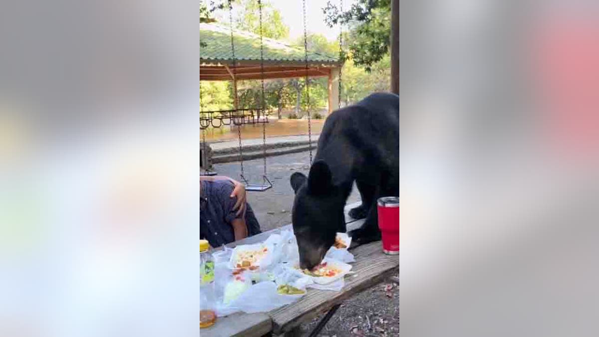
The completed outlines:
{"type": "Polygon", "coordinates": [[[281,334],[292,330],[304,321],[327,311],[333,305],[348,297],[382,282],[400,265],[397,255],[383,254],[381,243],[372,242],[353,249],[356,261],[352,275],[345,278],[345,287],[341,291],[308,290],[297,302],[269,312],[273,318],[273,333],[281,334]]]}

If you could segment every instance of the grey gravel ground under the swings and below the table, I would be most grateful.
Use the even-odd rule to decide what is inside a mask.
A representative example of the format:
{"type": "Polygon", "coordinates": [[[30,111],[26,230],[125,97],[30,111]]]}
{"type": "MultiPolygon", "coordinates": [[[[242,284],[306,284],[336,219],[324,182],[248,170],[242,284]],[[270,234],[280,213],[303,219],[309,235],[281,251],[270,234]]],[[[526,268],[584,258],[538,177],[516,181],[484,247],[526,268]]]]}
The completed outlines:
{"type": "MultiPolygon", "coordinates": [[[[273,188],[264,192],[248,192],[248,201],[263,231],[291,223],[294,192],[289,185],[289,177],[294,171],[308,174],[308,158],[308,152],[267,158],[267,175],[273,182],[273,188]]],[[[262,182],[262,164],[262,158],[244,161],[244,173],[250,182],[262,182]]],[[[215,164],[214,170],[219,175],[240,180],[240,163],[215,164]]],[[[359,199],[358,190],[354,188],[347,203],[359,199]]],[[[399,305],[398,285],[391,281],[383,282],[347,299],[319,336],[399,336],[399,305]]],[[[322,316],[302,324],[302,335],[310,332],[322,316]]]]}

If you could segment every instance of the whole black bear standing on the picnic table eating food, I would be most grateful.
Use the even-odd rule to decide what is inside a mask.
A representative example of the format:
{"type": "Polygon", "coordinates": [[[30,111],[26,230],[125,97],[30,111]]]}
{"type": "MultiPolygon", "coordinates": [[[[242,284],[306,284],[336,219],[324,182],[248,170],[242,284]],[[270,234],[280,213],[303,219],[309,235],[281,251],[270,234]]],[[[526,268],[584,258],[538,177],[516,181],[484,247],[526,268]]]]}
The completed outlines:
{"type": "Polygon", "coordinates": [[[308,177],[292,174],[292,221],[302,268],[319,264],[335,242],[335,233],[346,231],[343,207],[354,181],[362,204],[349,214],[366,220],[349,234],[358,243],[380,240],[376,201],[399,195],[399,99],[371,94],[331,113],[308,177]]]}

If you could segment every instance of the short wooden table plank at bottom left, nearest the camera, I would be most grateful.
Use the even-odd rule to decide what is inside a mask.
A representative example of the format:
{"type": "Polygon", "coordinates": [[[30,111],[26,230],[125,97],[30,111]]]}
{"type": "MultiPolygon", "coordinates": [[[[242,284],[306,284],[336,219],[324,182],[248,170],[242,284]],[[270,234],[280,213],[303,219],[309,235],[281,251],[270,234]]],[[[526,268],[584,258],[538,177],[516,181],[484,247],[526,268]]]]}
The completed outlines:
{"type": "Polygon", "coordinates": [[[220,317],[211,327],[200,329],[200,337],[244,336],[261,337],[269,333],[273,327],[270,316],[264,312],[256,314],[237,314],[220,317]]]}

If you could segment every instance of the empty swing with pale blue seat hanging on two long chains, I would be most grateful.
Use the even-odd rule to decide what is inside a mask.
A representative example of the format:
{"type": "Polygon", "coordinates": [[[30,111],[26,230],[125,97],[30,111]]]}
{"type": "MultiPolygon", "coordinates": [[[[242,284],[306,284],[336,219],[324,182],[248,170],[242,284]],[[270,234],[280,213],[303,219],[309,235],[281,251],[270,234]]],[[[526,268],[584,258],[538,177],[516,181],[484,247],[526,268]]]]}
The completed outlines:
{"type": "MultiPolygon", "coordinates": [[[[232,10],[233,7],[231,5],[231,0],[228,0],[229,3],[229,28],[231,29],[231,53],[232,53],[232,61],[233,61],[233,67],[232,67],[232,71],[233,71],[233,80],[235,80],[235,70],[237,68],[236,65],[236,60],[235,60],[235,43],[233,41],[233,16],[232,16],[232,10]]],[[[258,8],[259,8],[259,14],[260,14],[260,73],[261,73],[261,83],[262,83],[262,100],[261,100],[261,116],[264,116],[264,43],[262,41],[262,1],[258,0],[258,8]]],[[[238,106],[237,106],[237,92],[235,91],[234,93],[235,97],[235,115],[237,115],[238,113],[238,106]]],[[[249,183],[246,179],[246,177],[244,176],[244,172],[243,172],[243,149],[241,146],[241,124],[243,124],[243,117],[241,119],[241,123],[236,123],[235,119],[233,120],[233,124],[237,125],[237,139],[239,140],[239,161],[240,161],[240,166],[241,166],[241,179],[243,179],[243,182],[246,185],[246,191],[266,191],[267,189],[273,187],[273,183],[270,182],[270,180],[268,180],[267,174],[266,174],[266,123],[263,122],[262,123],[262,158],[264,159],[264,174],[262,174],[262,184],[256,184],[256,183],[249,183]]]]}

